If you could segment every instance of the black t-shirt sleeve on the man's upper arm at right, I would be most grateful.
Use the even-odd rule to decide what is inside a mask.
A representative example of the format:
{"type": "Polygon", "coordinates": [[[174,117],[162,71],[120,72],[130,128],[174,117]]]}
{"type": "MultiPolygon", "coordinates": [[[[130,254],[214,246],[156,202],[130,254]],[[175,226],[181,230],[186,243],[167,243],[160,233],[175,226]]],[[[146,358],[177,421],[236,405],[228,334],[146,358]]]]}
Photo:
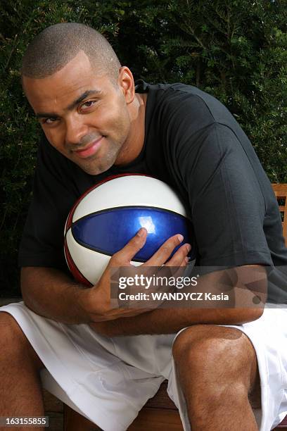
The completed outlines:
{"type": "Polygon", "coordinates": [[[179,148],[200,266],[272,265],[264,197],[231,128],[213,123],[179,148]]]}

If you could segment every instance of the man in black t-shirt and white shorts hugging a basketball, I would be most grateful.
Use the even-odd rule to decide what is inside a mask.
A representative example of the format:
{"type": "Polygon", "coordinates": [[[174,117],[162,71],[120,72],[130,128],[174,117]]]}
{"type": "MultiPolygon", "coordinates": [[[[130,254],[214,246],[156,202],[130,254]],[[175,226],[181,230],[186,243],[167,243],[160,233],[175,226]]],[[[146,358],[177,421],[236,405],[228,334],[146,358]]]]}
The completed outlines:
{"type": "MultiPolygon", "coordinates": [[[[148,173],[190,208],[197,263],[218,268],[203,287],[234,268],[236,287],[255,270],[263,289],[264,267],[286,265],[287,251],[272,188],[234,118],[194,87],[139,82],[135,91],[106,39],[76,23],[38,35],[22,77],[46,139],[20,246],[25,304],[0,313],[1,416],[43,414],[45,367],[103,430],[126,430],[165,378],[185,430],[208,430],[211,420],[213,430],[258,430],[251,404],[260,394],[260,430],[270,430],[287,412],[284,309],[111,309],[108,269],[84,289],[63,257],[65,218],[86,189],[115,173],[148,173]]],[[[146,235],[110,266],[128,265],[146,235]]],[[[170,258],[181,242],[170,238],[145,265],[185,266],[190,244],[170,258]]]]}

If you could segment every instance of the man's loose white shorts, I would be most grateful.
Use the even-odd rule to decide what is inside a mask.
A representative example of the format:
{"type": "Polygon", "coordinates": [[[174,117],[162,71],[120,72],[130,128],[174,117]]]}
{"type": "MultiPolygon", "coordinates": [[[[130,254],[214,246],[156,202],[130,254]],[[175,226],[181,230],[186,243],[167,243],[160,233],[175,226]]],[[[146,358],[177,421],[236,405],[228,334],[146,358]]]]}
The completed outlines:
{"type": "MultiPolygon", "coordinates": [[[[44,363],[44,386],[104,431],[127,430],[165,379],[184,431],[190,430],[172,360],[176,334],[108,338],[89,325],[38,316],[23,302],[0,311],[15,318],[44,363]]],[[[287,310],[267,308],[254,322],[230,326],[255,348],[262,392],[262,411],[255,416],[260,431],[269,431],[287,414],[287,310]]]]}

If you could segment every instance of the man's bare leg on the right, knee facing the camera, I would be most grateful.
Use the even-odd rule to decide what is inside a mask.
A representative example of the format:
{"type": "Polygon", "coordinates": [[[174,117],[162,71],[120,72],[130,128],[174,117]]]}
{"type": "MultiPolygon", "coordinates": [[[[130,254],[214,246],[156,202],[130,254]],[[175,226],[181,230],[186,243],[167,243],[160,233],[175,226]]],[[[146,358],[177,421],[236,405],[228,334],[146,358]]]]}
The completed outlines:
{"type": "Polygon", "coordinates": [[[257,358],[243,332],[194,325],[179,334],[173,356],[192,431],[258,430],[250,406],[260,407],[257,358]]]}

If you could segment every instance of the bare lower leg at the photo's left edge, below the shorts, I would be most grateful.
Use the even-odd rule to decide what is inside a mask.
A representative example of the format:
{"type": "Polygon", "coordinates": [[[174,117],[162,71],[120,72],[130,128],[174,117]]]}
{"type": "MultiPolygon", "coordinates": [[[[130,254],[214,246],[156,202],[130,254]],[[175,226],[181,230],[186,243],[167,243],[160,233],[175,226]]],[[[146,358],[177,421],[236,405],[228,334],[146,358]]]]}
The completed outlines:
{"type": "MultiPolygon", "coordinates": [[[[44,365],[18,323],[6,312],[0,312],[0,351],[0,416],[44,416],[39,377],[44,365]]],[[[6,429],[11,430],[1,428],[6,429]]],[[[17,428],[22,429],[30,428],[17,428]]]]}

